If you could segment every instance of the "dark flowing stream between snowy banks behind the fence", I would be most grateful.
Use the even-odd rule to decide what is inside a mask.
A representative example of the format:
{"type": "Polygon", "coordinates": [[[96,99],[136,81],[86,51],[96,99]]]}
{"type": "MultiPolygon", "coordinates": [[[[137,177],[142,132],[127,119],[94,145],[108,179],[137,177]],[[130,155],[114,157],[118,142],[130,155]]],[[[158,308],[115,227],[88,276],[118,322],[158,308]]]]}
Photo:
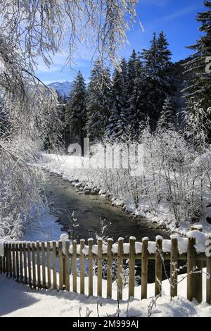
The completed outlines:
{"type": "Polygon", "coordinates": [[[79,194],[70,182],[58,175],[46,173],[45,188],[47,196],[53,200],[53,208],[56,209],[58,222],[63,225],[63,230],[69,230],[70,215],[75,213],[74,218],[77,218],[78,224],[75,229],[79,239],[88,239],[96,233],[101,235],[101,219],[106,219],[106,224],[110,223],[103,235],[113,237],[114,241],[123,237],[128,242],[130,236],[136,237],[137,241],[143,237],[155,240],[156,235],[169,238],[167,232],[158,229],[155,224],[134,217],[122,208],[111,206],[102,196],[79,194]]]}

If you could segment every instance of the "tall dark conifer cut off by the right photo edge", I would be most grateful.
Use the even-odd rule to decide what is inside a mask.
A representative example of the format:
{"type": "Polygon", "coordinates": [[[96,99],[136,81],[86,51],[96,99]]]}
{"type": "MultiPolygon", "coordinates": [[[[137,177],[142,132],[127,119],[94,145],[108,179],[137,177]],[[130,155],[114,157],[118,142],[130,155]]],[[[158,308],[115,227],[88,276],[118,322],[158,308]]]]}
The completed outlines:
{"type": "MultiPolygon", "coordinates": [[[[185,71],[188,74],[188,87],[183,92],[186,98],[186,118],[188,123],[198,121],[200,117],[203,123],[203,135],[211,138],[210,120],[211,120],[211,2],[205,1],[206,11],[198,13],[197,21],[200,23],[200,32],[203,35],[198,39],[195,45],[189,46],[194,53],[188,63],[185,65],[185,71]],[[203,115],[202,115],[203,114],[203,115]],[[196,119],[194,120],[194,116],[196,119]]],[[[193,126],[192,125],[192,126],[193,126]]],[[[186,127],[189,132],[191,129],[186,127]]],[[[200,144],[200,142],[199,142],[200,144]]]]}

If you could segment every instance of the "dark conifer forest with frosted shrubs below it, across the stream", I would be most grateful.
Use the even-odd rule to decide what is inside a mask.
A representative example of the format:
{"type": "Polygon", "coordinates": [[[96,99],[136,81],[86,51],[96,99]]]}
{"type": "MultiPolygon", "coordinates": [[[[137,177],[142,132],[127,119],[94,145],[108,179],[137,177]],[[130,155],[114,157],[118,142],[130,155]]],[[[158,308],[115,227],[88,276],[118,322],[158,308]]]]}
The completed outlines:
{"type": "Polygon", "coordinates": [[[111,148],[143,144],[141,176],[108,168],[71,170],[69,177],[106,187],[113,201],[126,209],[125,201],[130,201],[134,213],[172,230],[211,221],[210,2],[205,9],[197,16],[203,36],[188,46],[193,50],[189,58],[172,63],[167,38],[160,32],[148,49],[132,51],[128,61],[122,58],[112,70],[96,59],[88,85],[79,71],[70,99],[60,97],[61,130],[52,127],[46,142],[49,150],[58,136],[66,149],[72,142],[83,149],[84,137],[111,148]]]}

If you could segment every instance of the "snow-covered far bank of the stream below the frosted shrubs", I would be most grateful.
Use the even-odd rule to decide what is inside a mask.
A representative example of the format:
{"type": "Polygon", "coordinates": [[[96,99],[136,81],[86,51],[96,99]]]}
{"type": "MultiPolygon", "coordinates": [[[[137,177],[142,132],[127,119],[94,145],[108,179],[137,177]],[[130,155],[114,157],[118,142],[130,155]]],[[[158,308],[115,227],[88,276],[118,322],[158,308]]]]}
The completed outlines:
{"type": "MultiPolygon", "coordinates": [[[[102,174],[96,168],[95,160],[90,161],[89,158],[78,156],[42,154],[40,162],[42,168],[61,175],[64,180],[70,181],[72,186],[77,189],[90,190],[90,192],[96,190],[103,196],[109,194],[109,189],[106,187],[102,174]]],[[[180,226],[176,227],[174,216],[170,212],[170,205],[167,201],[155,204],[151,208],[151,206],[146,206],[146,201],[140,200],[139,206],[136,208],[132,196],[129,196],[129,194],[121,196],[119,194],[118,196],[111,196],[111,203],[113,206],[123,206],[124,210],[146,218],[150,222],[158,223],[158,225],[171,232],[179,232],[181,235],[186,235],[191,225],[191,223],[181,219],[180,226]]],[[[204,232],[210,232],[210,224],[205,219],[200,220],[200,224],[203,225],[204,232]]]]}

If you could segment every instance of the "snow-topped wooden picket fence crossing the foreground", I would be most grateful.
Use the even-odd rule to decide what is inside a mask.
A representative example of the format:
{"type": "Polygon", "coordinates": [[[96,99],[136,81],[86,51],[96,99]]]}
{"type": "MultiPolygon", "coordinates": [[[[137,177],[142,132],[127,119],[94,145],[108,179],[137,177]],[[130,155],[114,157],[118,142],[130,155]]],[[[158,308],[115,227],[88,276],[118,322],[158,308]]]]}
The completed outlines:
{"type": "MultiPolygon", "coordinates": [[[[177,274],[179,261],[187,265],[187,299],[203,299],[203,265],[207,266],[206,301],[211,304],[211,257],[205,254],[211,235],[205,235],[201,228],[187,233],[187,237],[172,235],[170,240],[156,237],[155,242],[145,237],[142,242],[130,237],[129,243],[119,238],[117,244],[108,239],[103,244],[98,239],[74,240],[72,244],[65,235],[58,242],[1,242],[0,273],[13,277],[33,289],[65,289],[70,291],[70,270],[72,290],[84,294],[85,266],[88,265],[88,293],[93,295],[93,268],[97,261],[97,294],[102,296],[103,263],[106,261],[107,297],[112,297],[113,261],[117,261],[117,298],[122,299],[122,268],[129,261],[128,296],[134,296],[136,260],[141,261],[140,299],[147,298],[148,261],[155,261],[155,296],[162,294],[162,273],[164,261],[170,261],[170,295],[177,296],[177,274]],[[209,240],[207,240],[209,239],[209,240]],[[77,260],[79,270],[77,270],[77,260]],[[58,266],[58,273],[57,273],[58,266]],[[195,272],[193,272],[195,270],[195,272]],[[77,288],[77,275],[80,286],[77,288]]],[[[211,241],[209,242],[211,244],[211,241]]],[[[211,252],[211,249],[210,249],[211,252]]],[[[209,254],[208,254],[209,255],[209,254]]]]}

